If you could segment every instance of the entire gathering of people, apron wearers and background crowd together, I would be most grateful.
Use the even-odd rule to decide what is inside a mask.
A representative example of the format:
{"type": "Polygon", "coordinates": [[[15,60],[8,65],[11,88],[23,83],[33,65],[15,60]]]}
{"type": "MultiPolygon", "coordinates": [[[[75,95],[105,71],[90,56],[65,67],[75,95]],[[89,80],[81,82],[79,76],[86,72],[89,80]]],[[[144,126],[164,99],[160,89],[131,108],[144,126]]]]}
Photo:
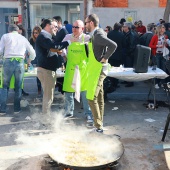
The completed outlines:
{"type": "MultiPolygon", "coordinates": [[[[15,77],[14,113],[21,111],[24,60],[37,67],[37,91],[43,96],[43,124],[51,123],[51,105],[54,92],[64,93],[64,117],[74,116],[74,98],[82,103],[87,123],[103,132],[104,99],[107,93],[119,87],[115,78],[107,77],[104,72],[107,63],[111,66],[133,67],[135,49],[138,44],[151,48],[149,64],[168,72],[170,24],[160,19],[146,27],[142,21],[132,24],[124,18],[103,30],[96,14],[90,14],[85,21],[76,20],[73,25],[60,16],[42,19],[35,26],[29,41],[24,37],[21,27],[9,25],[9,33],[0,41],[0,55],[3,56],[3,88],[0,89],[0,114],[6,114],[7,94],[12,75],[15,77]],[[166,55],[164,50],[168,50],[166,55]],[[57,78],[57,68],[65,65],[64,78],[57,78]],[[109,81],[109,88],[103,84],[109,81]],[[105,82],[105,83],[103,83],[105,82]],[[2,97],[5,96],[5,97],[2,97]]],[[[166,80],[156,80],[159,88],[166,80]]],[[[134,86],[133,82],[122,82],[125,87],[134,86]]],[[[25,93],[25,92],[24,92],[25,93]]]]}

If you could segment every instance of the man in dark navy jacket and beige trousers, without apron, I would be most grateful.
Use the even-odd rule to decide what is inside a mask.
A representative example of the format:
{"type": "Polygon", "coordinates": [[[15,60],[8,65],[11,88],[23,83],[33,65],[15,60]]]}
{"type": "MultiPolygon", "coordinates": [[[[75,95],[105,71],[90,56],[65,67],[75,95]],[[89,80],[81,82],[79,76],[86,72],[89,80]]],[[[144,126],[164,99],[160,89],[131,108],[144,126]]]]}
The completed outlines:
{"type": "Polygon", "coordinates": [[[53,50],[66,48],[70,41],[53,41],[52,35],[57,32],[57,22],[45,19],[42,23],[42,31],[36,39],[35,49],[37,57],[37,76],[43,89],[42,119],[43,124],[50,123],[50,109],[54,98],[56,82],[57,55],[53,50]]]}

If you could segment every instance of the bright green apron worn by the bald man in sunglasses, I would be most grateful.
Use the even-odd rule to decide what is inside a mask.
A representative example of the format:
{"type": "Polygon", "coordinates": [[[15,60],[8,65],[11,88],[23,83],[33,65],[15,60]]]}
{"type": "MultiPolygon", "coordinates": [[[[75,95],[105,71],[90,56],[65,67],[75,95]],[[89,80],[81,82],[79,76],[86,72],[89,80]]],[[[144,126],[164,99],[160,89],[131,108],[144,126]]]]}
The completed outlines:
{"type": "Polygon", "coordinates": [[[63,91],[66,92],[75,92],[75,90],[71,87],[75,66],[79,66],[80,70],[80,91],[85,91],[87,89],[87,61],[88,58],[86,56],[84,37],[82,38],[82,42],[72,42],[68,47],[67,54],[67,65],[66,71],[64,75],[64,83],[63,83],[63,91]]]}

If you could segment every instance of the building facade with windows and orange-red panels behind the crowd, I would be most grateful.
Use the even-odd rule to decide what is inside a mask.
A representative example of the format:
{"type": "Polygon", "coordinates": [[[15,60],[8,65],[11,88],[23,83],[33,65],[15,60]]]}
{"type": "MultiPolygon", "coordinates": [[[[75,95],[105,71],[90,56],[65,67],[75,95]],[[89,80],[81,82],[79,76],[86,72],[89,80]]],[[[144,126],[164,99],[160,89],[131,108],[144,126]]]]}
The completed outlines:
{"type": "MultiPolygon", "coordinates": [[[[42,18],[60,15],[73,23],[76,19],[84,20],[84,14],[96,13],[100,25],[113,26],[121,18],[134,22],[142,20],[144,25],[157,23],[163,18],[167,0],[28,0],[31,29],[40,25],[42,18]]],[[[27,7],[26,7],[27,8],[27,7]]],[[[27,11],[27,9],[25,9],[27,11]]],[[[9,23],[22,23],[22,10],[19,0],[0,0],[0,37],[7,32],[9,23]]],[[[28,26],[25,26],[28,28],[28,26]]]]}

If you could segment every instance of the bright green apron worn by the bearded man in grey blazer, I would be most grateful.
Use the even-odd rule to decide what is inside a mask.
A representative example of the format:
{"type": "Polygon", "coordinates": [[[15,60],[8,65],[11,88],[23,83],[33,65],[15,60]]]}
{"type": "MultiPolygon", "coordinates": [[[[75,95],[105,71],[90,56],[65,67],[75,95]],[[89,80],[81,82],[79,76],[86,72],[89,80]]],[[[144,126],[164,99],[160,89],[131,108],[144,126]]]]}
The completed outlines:
{"type": "Polygon", "coordinates": [[[93,100],[97,88],[97,83],[100,77],[100,73],[102,71],[102,63],[96,60],[91,42],[88,44],[88,46],[89,46],[89,61],[87,67],[88,83],[86,98],[89,100],[93,100]]]}

